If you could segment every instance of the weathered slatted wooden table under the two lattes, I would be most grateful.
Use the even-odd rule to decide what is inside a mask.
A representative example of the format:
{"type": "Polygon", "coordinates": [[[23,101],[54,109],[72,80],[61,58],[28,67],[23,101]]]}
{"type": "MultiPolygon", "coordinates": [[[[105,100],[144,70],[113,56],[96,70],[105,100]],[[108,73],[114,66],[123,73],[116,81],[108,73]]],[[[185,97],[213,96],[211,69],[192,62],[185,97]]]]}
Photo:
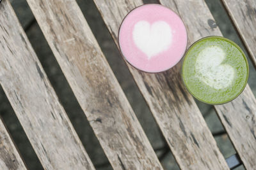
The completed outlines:
{"type": "MultiPolygon", "coordinates": [[[[222,0],[256,66],[256,3],[222,0]]],[[[75,0],[27,0],[58,64],[114,169],[163,169],[75,0]]],[[[94,0],[117,45],[125,15],[141,0],[94,0]]],[[[179,13],[189,45],[221,36],[204,0],[160,0],[179,13]]],[[[95,169],[61,106],[8,0],[0,4],[0,83],[45,169],[95,169]]],[[[179,66],[143,73],[127,64],[180,169],[229,169],[179,66]]],[[[256,100],[247,85],[234,101],[214,106],[236,148],[256,169],[256,100]]],[[[0,169],[26,169],[0,120],[0,169]]],[[[232,159],[233,160],[233,159],[232,159]]]]}

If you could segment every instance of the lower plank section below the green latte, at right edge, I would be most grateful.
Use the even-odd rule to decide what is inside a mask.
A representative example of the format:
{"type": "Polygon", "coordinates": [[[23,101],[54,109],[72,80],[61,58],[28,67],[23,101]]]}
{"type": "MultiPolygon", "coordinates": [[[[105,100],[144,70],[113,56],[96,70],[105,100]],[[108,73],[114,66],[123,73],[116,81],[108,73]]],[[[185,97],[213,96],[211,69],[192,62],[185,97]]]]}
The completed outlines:
{"type": "Polygon", "coordinates": [[[232,103],[215,106],[246,169],[256,169],[256,100],[247,85],[232,103]]]}

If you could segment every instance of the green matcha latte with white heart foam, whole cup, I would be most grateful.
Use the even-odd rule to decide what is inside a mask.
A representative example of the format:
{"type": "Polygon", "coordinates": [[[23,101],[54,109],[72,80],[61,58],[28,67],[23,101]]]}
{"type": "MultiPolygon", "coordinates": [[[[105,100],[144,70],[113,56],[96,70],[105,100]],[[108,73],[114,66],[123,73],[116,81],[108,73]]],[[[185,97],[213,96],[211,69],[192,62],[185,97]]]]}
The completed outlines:
{"type": "Polygon", "coordinates": [[[196,41],[186,52],[182,78],[196,99],[223,104],[235,99],[246,86],[248,62],[236,43],[209,36],[196,41]]]}

